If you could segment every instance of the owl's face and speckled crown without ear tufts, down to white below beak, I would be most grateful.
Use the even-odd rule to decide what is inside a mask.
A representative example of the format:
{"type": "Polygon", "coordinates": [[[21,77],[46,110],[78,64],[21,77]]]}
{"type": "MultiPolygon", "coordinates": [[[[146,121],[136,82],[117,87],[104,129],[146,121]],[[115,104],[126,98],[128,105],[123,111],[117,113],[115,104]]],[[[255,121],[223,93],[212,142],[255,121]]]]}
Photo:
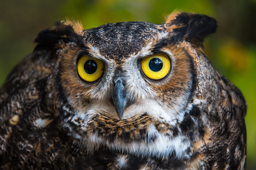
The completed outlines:
{"type": "Polygon", "coordinates": [[[56,72],[63,73],[59,78],[68,102],[81,114],[94,110],[92,117],[106,113],[128,119],[147,113],[168,122],[181,119],[182,112],[191,107],[181,103],[187,103],[193,93],[193,75],[182,44],[164,44],[169,36],[162,25],[148,23],[85,30],[83,47],[68,44],[58,52],[56,72]]]}

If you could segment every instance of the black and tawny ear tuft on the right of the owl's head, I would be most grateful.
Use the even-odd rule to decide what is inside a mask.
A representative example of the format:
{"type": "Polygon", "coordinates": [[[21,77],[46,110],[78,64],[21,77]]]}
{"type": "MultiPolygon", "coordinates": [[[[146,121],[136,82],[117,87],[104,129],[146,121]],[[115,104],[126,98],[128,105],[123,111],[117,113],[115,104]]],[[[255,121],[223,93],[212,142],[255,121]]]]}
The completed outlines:
{"type": "Polygon", "coordinates": [[[182,25],[170,30],[177,32],[177,35],[181,36],[180,39],[195,44],[202,44],[204,39],[217,29],[217,21],[212,17],[177,11],[169,15],[165,25],[170,28],[173,25],[182,25]]]}

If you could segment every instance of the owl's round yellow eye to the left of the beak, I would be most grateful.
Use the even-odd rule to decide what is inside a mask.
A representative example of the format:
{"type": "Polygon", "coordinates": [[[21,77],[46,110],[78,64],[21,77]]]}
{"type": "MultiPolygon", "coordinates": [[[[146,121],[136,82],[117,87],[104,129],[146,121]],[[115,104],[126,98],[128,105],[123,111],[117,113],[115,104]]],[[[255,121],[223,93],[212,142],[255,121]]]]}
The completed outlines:
{"type": "Polygon", "coordinates": [[[77,63],[79,76],[88,82],[96,81],[103,73],[104,65],[101,60],[82,56],[77,63]]]}

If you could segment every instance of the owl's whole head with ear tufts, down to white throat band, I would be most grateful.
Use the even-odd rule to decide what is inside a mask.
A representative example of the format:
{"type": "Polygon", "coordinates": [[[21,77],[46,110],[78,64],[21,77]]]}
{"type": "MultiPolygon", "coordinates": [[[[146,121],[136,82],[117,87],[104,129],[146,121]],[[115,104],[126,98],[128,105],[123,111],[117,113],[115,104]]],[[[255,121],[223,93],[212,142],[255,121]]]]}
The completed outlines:
{"type": "Polygon", "coordinates": [[[189,157],[203,94],[215,91],[203,41],[216,27],[211,17],[175,11],[162,25],[83,30],[65,21],[42,31],[34,53],[52,63],[46,101],[59,128],[87,150],[189,157]]]}

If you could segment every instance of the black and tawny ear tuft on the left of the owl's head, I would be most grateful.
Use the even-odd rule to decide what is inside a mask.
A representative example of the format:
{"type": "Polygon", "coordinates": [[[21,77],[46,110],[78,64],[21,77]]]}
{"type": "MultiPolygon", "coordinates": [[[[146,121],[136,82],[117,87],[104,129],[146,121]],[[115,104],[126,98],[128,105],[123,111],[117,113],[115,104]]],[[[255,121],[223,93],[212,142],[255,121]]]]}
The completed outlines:
{"type": "Polygon", "coordinates": [[[83,27],[80,22],[71,20],[57,22],[55,26],[45,29],[38,34],[35,39],[37,45],[34,51],[45,50],[54,52],[63,43],[79,42],[81,30],[83,30],[83,27]]]}

